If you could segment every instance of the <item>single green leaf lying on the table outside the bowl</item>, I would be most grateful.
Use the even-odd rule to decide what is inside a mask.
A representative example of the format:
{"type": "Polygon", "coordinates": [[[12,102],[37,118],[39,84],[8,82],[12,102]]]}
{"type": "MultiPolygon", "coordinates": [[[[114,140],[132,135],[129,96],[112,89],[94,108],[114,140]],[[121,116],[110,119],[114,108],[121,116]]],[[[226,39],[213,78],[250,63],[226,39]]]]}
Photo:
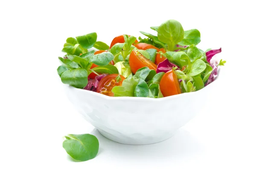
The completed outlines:
{"type": "Polygon", "coordinates": [[[87,161],[96,157],[99,151],[99,140],[90,134],[66,135],[63,148],[73,159],[87,161]]]}

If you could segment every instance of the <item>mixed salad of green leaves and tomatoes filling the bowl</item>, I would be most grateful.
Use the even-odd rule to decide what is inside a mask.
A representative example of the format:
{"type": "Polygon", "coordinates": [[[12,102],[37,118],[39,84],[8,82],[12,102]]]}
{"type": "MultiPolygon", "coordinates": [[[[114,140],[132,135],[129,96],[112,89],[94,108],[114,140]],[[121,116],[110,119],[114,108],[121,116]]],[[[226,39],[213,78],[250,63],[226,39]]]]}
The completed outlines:
{"type": "Polygon", "coordinates": [[[160,98],[200,90],[218,76],[216,61],[220,49],[203,51],[197,29],[184,31],[176,20],[151,27],[157,36],[127,34],[115,37],[111,45],[97,41],[95,32],[69,37],[58,57],[61,81],[79,89],[112,97],[160,98]],[[93,49],[98,49],[97,51],[93,49]]]}

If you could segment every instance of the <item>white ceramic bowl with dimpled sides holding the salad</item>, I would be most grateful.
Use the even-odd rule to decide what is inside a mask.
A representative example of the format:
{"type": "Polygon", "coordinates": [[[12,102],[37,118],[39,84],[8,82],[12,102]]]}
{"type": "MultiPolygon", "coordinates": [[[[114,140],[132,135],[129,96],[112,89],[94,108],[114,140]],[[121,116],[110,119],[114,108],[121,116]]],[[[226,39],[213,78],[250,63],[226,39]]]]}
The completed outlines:
{"type": "Polygon", "coordinates": [[[197,92],[164,98],[109,97],[69,85],[65,91],[105,137],[123,144],[150,144],[166,140],[191,120],[212,95],[216,81],[197,92]]]}

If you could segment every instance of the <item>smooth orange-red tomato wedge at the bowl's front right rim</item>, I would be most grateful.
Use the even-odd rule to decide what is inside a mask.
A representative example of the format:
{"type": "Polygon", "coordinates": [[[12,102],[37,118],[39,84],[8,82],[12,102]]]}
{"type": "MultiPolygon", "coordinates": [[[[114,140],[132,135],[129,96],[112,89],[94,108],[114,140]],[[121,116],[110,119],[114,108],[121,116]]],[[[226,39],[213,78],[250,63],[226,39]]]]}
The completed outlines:
{"type": "Polygon", "coordinates": [[[164,97],[181,93],[177,75],[173,70],[166,72],[160,81],[160,90],[164,97]]]}

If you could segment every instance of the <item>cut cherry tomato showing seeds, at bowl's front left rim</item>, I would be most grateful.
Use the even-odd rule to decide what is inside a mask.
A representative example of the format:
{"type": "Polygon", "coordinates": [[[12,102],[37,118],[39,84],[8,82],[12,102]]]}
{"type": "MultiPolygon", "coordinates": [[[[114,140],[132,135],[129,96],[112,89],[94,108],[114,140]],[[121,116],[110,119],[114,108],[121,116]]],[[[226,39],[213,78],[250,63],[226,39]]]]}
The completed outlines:
{"type": "Polygon", "coordinates": [[[97,91],[98,93],[101,93],[103,95],[107,96],[114,96],[112,89],[114,86],[122,86],[123,80],[125,80],[125,77],[120,75],[121,80],[119,82],[116,82],[116,77],[118,74],[109,74],[106,77],[103,77],[102,80],[99,81],[97,91]]]}

